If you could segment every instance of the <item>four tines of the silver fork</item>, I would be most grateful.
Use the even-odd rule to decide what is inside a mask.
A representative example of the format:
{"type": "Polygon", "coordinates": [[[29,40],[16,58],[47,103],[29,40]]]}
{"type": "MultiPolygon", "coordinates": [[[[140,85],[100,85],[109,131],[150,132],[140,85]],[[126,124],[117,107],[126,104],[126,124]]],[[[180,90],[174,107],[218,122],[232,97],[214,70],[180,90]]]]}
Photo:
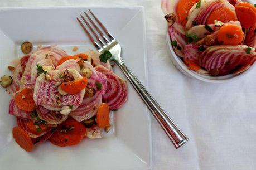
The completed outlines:
{"type": "Polygon", "coordinates": [[[104,33],[102,32],[102,30],[100,30],[100,28],[96,25],[96,23],[91,20],[91,17],[89,16],[89,14],[87,14],[86,12],[84,12],[86,18],[89,20],[86,21],[85,17],[83,15],[80,15],[82,20],[84,21],[85,25],[89,28],[89,30],[91,31],[91,33],[94,35],[91,35],[91,33],[88,31],[88,29],[85,27],[85,25],[80,21],[79,18],[76,18],[78,20],[78,22],[80,23],[81,27],[84,29],[85,33],[89,36],[90,41],[93,43],[93,45],[97,48],[98,51],[102,51],[105,47],[107,47],[108,45],[110,45],[112,42],[115,41],[114,37],[110,34],[110,32],[108,32],[107,28],[102,24],[102,22],[99,21],[99,19],[94,15],[93,12],[90,11],[90,9],[88,9],[89,12],[91,13],[91,16],[93,16],[93,18],[95,19],[95,21],[98,23],[99,27],[102,28],[102,30],[104,31],[105,35],[107,35],[107,38],[104,33]],[[94,27],[94,28],[93,28],[94,27]],[[99,36],[100,35],[100,36],[99,36]],[[94,38],[95,37],[95,38],[94,38]],[[103,39],[102,39],[102,38],[103,39]],[[98,43],[99,42],[99,43],[98,43]]]}

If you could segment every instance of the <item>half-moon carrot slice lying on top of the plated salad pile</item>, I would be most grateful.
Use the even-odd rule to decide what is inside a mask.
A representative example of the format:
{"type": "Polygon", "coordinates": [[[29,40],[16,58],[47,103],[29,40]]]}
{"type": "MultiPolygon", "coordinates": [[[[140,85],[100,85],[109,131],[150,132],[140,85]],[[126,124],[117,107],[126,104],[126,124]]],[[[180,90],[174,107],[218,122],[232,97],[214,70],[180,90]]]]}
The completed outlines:
{"type": "Polygon", "coordinates": [[[69,94],[76,94],[79,93],[81,90],[86,88],[87,86],[87,78],[83,77],[82,79],[79,80],[74,80],[70,82],[63,82],[60,87],[63,91],[69,94]]]}

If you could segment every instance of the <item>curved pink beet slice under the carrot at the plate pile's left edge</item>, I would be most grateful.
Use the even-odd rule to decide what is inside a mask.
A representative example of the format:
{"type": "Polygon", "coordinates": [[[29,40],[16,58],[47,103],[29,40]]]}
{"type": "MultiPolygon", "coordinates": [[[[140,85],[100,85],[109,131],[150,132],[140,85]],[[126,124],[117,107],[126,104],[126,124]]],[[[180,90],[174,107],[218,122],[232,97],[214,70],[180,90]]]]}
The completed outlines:
{"type": "Polygon", "coordinates": [[[13,96],[13,98],[10,100],[9,114],[18,116],[21,118],[31,119],[30,112],[26,112],[18,109],[17,105],[15,104],[15,96],[13,96]]]}

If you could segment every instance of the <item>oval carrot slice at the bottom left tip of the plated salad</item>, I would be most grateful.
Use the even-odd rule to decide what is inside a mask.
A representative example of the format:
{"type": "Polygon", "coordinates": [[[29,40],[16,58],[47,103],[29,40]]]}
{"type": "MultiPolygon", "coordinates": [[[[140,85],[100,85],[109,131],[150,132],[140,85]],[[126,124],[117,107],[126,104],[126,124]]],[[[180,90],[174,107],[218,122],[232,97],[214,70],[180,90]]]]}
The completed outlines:
{"type": "Polygon", "coordinates": [[[25,130],[20,127],[14,127],[12,129],[13,138],[21,148],[26,150],[27,152],[31,152],[33,149],[33,143],[30,136],[25,132],[25,130]]]}

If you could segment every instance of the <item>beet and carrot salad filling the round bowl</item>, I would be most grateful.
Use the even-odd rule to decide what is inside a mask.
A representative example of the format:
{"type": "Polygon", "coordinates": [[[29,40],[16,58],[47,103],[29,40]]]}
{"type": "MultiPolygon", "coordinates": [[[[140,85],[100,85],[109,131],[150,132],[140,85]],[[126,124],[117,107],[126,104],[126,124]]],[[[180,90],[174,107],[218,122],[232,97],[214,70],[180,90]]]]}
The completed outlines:
{"type": "Polygon", "coordinates": [[[240,74],[256,60],[256,7],[240,0],[161,0],[171,46],[202,75],[240,74]]]}

